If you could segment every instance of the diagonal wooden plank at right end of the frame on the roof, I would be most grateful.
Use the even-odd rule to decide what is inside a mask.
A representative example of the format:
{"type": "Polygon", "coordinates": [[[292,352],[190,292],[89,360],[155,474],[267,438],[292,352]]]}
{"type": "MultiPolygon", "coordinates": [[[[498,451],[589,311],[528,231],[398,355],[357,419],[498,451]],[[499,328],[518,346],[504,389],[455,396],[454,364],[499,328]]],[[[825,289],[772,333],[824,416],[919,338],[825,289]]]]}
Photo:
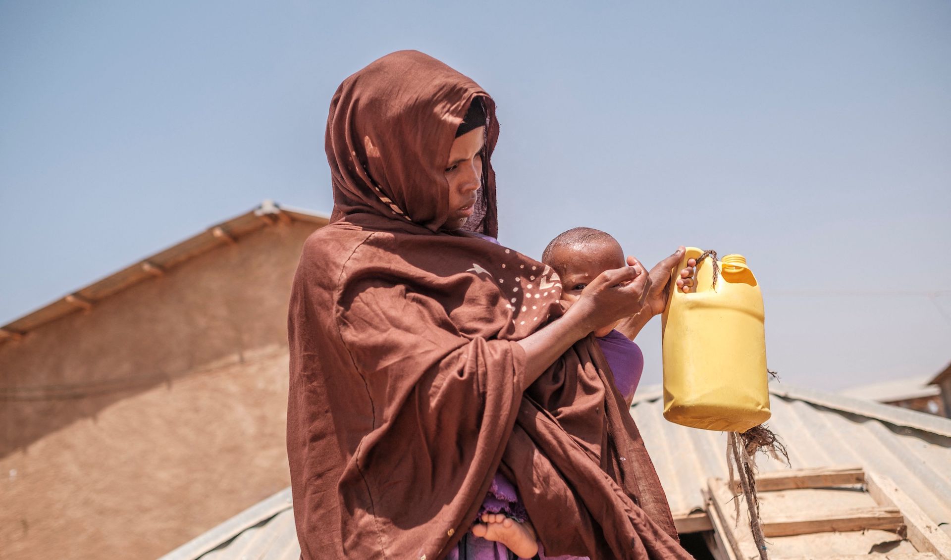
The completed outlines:
{"type": "Polygon", "coordinates": [[[918,504],[890,478],[880,473],[865,473],[865,486],[876,503],[902,512],[908,540],[916,549],[931,552],[940,560],[951,560],[951,536],[922,512],[918,504]]]}

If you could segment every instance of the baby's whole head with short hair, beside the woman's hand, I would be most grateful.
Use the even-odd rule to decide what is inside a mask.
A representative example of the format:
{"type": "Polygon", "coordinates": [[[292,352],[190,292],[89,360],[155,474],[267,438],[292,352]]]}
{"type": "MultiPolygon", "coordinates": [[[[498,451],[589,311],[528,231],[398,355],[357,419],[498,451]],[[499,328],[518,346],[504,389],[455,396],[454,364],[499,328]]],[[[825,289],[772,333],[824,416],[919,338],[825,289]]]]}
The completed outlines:
{"type": "MultiPolygon", "coordinates": [[[[554,238],[545,247],[541,261],[561,279],[561,299],[574,302],[588,282],[606,270],[627,266],[621,244],[609,234],[591,227],[575,227],[554,238]]],[[[601,329],[595,335],[611,332],[601,329]]]]}

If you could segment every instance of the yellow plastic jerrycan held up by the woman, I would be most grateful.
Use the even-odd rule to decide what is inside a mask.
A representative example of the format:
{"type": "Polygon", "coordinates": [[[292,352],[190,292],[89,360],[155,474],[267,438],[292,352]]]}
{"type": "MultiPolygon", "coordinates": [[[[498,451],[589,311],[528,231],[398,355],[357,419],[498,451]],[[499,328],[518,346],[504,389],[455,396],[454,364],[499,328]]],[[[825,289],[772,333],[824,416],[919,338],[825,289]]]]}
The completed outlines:
{"type": "Polygon", "coordinates": [[[704,252],[688,247],[670,276],[664,310],[664,417],[704,430],[746,432],[769,419],[763,296],[742,255],[697,265],[694,288],[680,271],[704,252]],[[714,285],[714,262],[719,270],[714,285]]]}

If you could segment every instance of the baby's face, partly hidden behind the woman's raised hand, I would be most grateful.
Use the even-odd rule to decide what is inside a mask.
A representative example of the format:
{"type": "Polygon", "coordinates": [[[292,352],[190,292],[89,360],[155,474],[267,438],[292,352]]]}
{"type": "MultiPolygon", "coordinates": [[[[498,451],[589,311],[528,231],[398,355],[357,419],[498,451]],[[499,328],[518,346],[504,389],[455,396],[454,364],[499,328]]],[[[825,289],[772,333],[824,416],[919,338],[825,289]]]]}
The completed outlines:
{"type": "MultiPolygon", "coordinates": [[[[624,268],[627,261],[621,245],[614,241],[594,241],[583,246],[558,247],[553,251],[554,269],[561,276],[561,299],[573,303],[581,297],[585,286],[606,270],[624,268]]],[[[596,331],[604,337],[616,325],[596,331]]]]}

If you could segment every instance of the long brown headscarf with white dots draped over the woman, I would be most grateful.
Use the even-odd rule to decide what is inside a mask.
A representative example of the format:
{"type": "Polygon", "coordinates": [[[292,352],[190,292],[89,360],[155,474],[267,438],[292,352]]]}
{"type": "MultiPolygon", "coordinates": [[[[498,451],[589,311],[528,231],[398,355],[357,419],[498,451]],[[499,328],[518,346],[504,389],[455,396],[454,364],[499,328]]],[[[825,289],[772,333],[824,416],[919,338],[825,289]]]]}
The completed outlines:
{"type": "Polygon", "coordinates": [[[496,470],[549,554],[689,558],[593,338],[527,391],[515,342],[560,315],[544,264],[466,232],[445,164],[467,108],[487,119],[480,211],[495,236],[495,104],[416,51],[334,95],[331,224],[305,243],[288,318],[287,449],[304,558],[435,560],[469,531],[496,470]]]}

